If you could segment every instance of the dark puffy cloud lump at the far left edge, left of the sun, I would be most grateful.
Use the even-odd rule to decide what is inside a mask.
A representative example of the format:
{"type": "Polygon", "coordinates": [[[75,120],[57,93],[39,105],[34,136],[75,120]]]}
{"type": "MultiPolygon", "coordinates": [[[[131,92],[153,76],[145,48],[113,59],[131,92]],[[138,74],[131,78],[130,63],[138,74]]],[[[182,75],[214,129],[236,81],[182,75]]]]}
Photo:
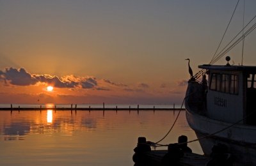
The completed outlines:
{"type": "Polygon", "coordinates": [[[3,71],[0,71],[0,79],[5,82],[10,82],[15,86],[29,86],[36,84],[37,80],[31,76],[30,73],[26,72],[24,68],[19,70],[15,68],[6,68],[3,71]]]}

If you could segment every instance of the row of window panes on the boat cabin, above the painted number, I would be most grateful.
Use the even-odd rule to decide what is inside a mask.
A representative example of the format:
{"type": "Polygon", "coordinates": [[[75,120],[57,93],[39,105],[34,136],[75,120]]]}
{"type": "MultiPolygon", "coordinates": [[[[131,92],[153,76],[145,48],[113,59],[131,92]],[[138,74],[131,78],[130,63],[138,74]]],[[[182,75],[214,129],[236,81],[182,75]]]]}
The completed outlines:
{"type": "Polygon", "coordinates": [[[212,73],[210,89],[222,93],[238,94],[238,76],[212,73]]]}

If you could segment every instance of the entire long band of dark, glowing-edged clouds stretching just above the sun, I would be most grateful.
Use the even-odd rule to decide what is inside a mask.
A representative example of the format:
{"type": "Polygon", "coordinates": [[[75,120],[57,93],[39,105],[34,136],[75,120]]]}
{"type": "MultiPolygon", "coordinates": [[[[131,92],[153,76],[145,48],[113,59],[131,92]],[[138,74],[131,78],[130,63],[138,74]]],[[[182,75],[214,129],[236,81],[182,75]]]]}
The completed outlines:
{"type": "MultiPolygon", "coordinates": [[[[26,72],[24,68],[6,68],[0,70],[0,80],[4,80],[5,85],[29,86],[36,83],[49,84],[59,88],[81,87],[83,89],[94,89],[98,91],[111,91],[111,85],[117,87],[127,87],[125,84],[117,84],[111,80],[97,80],[95,77],[76,77],[74,75],[66,75],[57,77],[54,75],[37,75],[26,72]]],[[[147,84],[140,84],[140,87],[148,87],[147,84]]]]}

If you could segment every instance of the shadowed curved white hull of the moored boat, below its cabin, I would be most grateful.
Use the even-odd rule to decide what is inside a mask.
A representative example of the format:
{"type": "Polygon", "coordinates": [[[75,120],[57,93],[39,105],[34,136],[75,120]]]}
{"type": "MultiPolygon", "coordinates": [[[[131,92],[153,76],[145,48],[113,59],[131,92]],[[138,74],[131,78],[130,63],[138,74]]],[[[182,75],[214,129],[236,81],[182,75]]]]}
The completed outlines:
{"type": "Polygon", "coordinates": [[[186,110],[189,126],[195,131],[205,155],[211,155],[212,147],[218,143],[228,146],[230,153],[241,165],[256,165],[256,128],[236,124],[223,132],[200,139],[218,132],[232,124],[209,119],[205,116],[186,110]]]}

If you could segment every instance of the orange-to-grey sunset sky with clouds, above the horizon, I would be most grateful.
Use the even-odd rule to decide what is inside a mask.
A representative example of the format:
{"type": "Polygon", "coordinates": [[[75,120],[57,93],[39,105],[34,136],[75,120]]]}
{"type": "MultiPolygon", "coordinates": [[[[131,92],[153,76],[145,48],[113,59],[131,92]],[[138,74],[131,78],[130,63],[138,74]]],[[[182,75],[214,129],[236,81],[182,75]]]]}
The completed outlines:
{"type": "MultiPolygon", "coordinates": [[[[184,59],[194,73],[211,61],[236,3],[0,0],[0,103],[182,103],[184,59]]],[[[255,7],[245,1],[244,24],[255,7]]],[[[243,1],[221,48],[242,27],[243,1]]],[[[244,65],[256,64],[255,41],[253,31],[244,65]]]]}

